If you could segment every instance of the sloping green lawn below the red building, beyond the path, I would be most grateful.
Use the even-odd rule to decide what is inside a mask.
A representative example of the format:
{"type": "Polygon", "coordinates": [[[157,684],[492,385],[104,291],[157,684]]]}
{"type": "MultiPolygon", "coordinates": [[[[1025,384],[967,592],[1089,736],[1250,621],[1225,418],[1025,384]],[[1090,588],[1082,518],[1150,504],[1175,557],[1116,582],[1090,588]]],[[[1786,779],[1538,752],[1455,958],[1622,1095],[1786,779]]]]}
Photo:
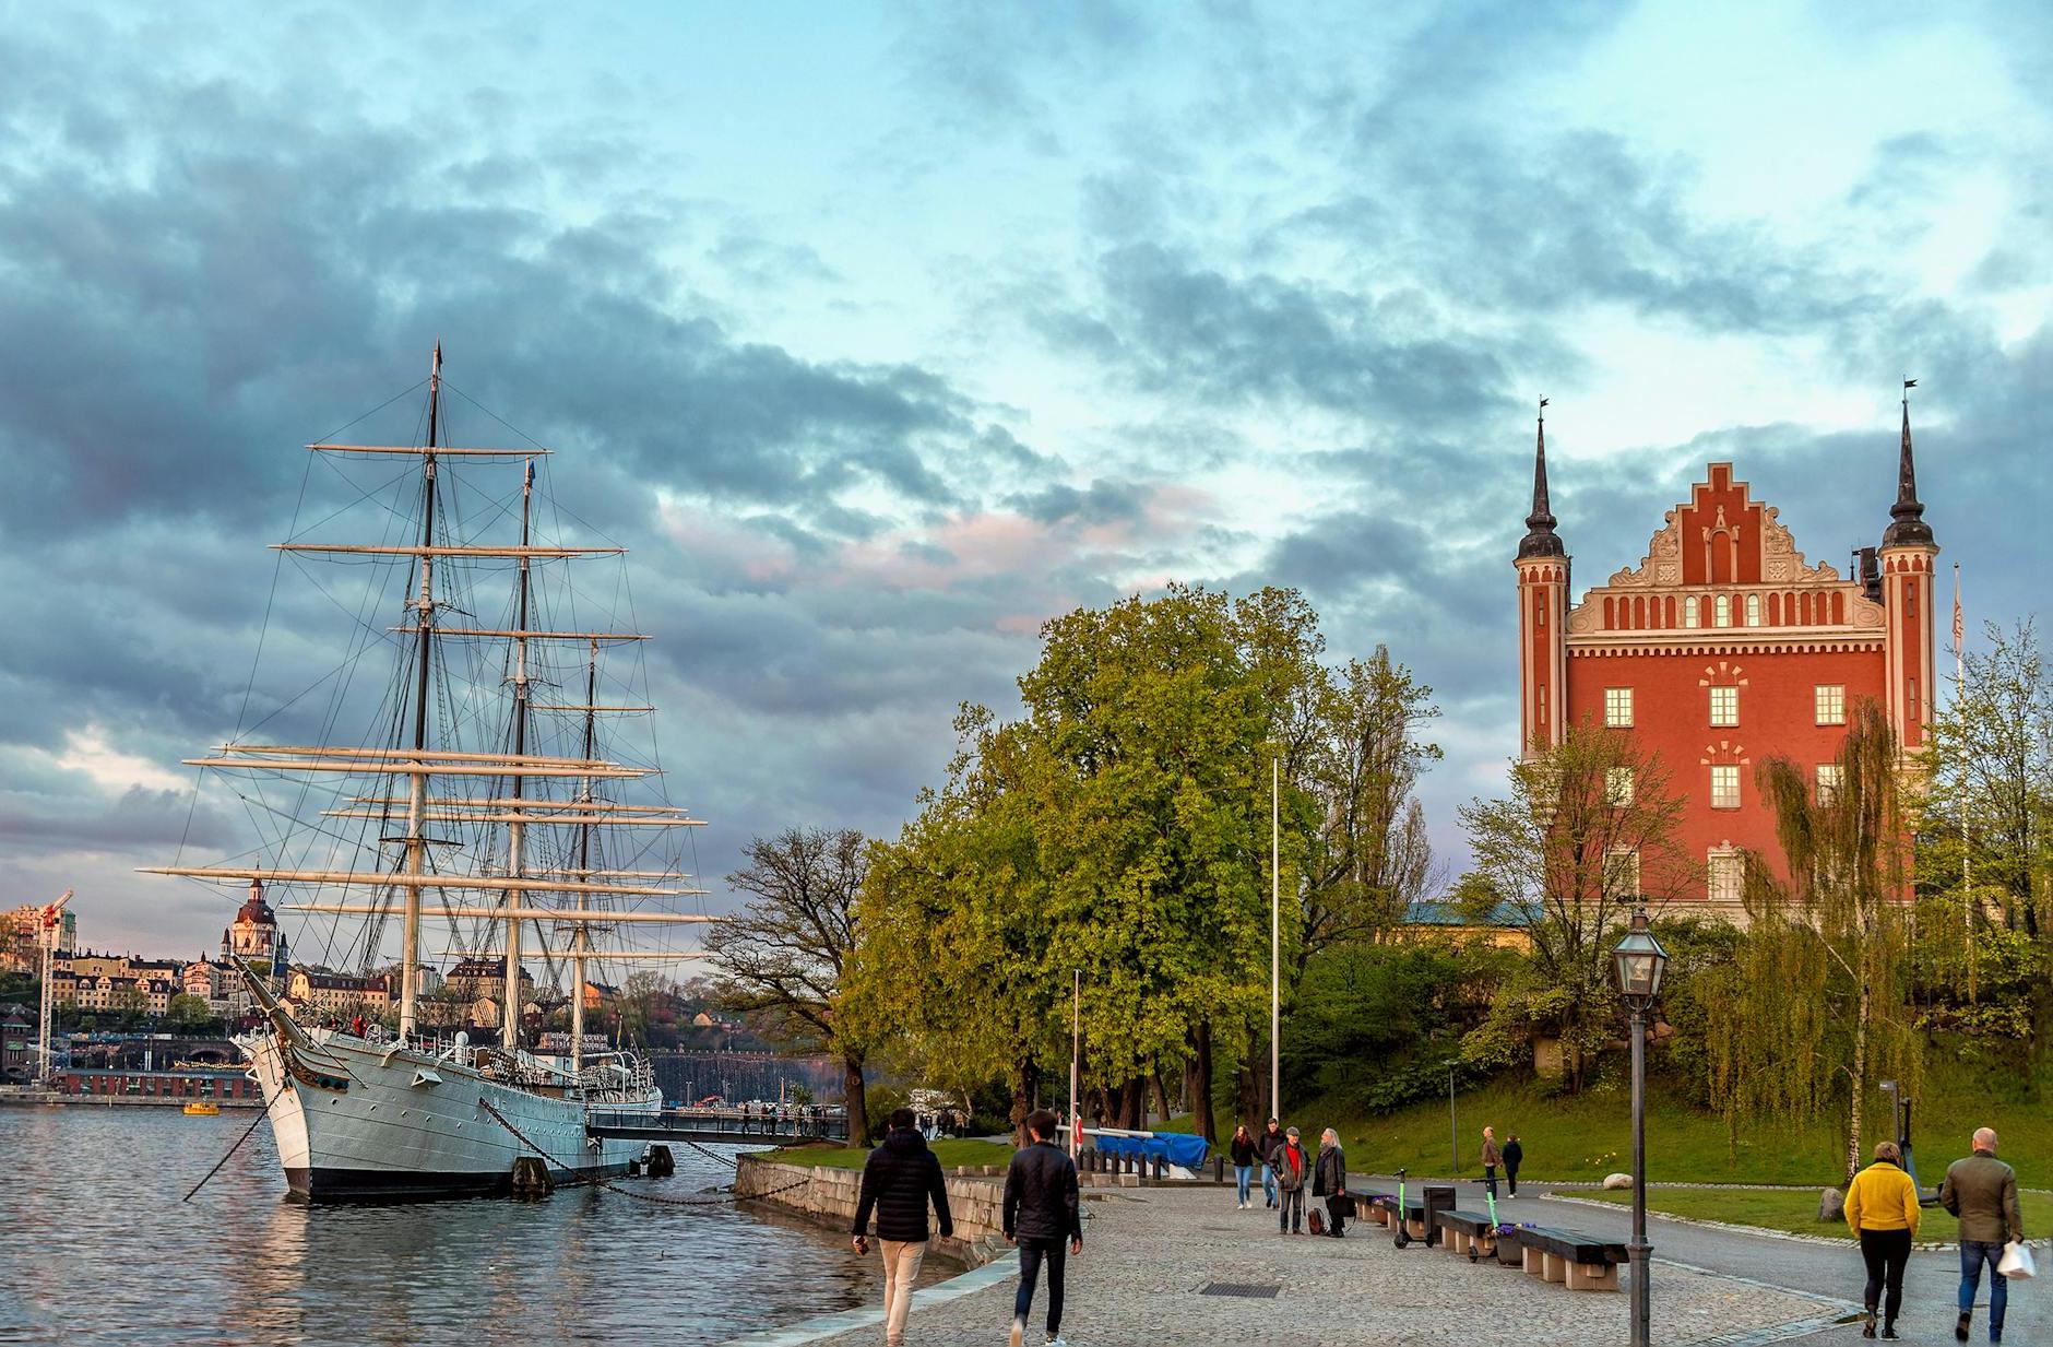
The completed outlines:
{"type": "MultiPolygon", "coordinates": [[[[2041,1101],[2020,1101],[2016,1078],[1977,1072],[1959,1062],[1934,1062],[1918,1101],[1913,1136],[1918,1172],[1934,1187],[1946,1164],[1967,1154],[1977,1125],[2002,1133],[2002,1156],[2018,1168],[2026,1187],[2053,1187],[2053,1082],[2041,1086],[2041,1101]]],[[[1497,1140],[1517,1133],[1525,1150],[1521,1179],[1603,1179],[1632,1162],[1630,1090],[1603,1080],[1577,1099],[1542,1099],[1529,1082],[1493,1082],[1456,1094],[1460,1175],[1480,1177],[1476,1146],[1482,1125],[1497,1127],[1497,1140]]],[[[1874,1092],[1866,1109],[1864,1152],[1889,1133],[1889,1096],[1874,1092]]],[[[1283,1119],[1318,1136],[1337,1127],[1347,1146],[1347,1166],[1390,1172],[1398,1166],[1415,1175],[1449,1172],[1447,1101],[1421,1103],[1388,1115],[1363,1117],[1324,1109],[1312,1101],[1283,1119]]],[[[1864,1154],[1866,1158],[1866,1154],[1864,1154]]],[[[1651,1082],[1647,1105],[1647,1168],[1653,1183],[1839,1183],[1846,1168],[1842,1119],[1817,1119],[1807,1127],[1757,1127],[1737,1146],[1727,1144],[1725,1121],[1692,1107],[1659,1078],[1651,1082]]]]}

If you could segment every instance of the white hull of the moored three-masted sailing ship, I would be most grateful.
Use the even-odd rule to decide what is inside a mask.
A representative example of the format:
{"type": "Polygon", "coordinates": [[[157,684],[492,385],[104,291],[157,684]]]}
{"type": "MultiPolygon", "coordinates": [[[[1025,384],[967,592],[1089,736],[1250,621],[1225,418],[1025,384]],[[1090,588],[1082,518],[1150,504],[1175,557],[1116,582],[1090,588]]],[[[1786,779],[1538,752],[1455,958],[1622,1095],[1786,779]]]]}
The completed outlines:
{"type": "MultiPolygon", "coordinates": [[[[285,1183],[312,1201],[505,1193],[513,1162],[538,1154],[556,1183],[591,1183],[628,1172],[647,1150],[589,1138],[575,1086],[493,1080],[462,1049],[437,1055],[320,1031],[298,1045],[277,1033],[240,1043],[285,1183]]],[[[661,1094],[608,1092],[591,1107],[657,1113],[661,1094]]]]}

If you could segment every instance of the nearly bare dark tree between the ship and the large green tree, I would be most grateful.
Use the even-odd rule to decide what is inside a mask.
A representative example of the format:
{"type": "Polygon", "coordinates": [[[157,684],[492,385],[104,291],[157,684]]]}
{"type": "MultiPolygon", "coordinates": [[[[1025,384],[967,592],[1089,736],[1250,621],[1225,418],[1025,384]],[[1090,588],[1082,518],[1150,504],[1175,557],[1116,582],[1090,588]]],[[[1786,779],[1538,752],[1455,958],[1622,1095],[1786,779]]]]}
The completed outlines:
{"type": "Polygon", "coordinates": [[[856,897],[868,873],[868,842],[852,828],[786,828],[753,838],[747,864],[727,885],[749,901],[706,936],[721,969],[725,1006],[764,1014],[790,1043],[842,1060],[848,1140],[868,1136],[862,1105],[864,1037],[842,1014],[856,949],[856,897]]]}

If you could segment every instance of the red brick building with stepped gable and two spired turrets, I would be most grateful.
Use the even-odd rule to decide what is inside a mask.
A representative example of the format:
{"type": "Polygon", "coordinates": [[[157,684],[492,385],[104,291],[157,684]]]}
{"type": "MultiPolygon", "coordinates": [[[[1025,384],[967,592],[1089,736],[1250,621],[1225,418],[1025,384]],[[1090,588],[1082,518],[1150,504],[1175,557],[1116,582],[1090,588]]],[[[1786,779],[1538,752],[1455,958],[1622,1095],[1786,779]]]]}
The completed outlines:
{"type": "Polygon", "coordinates": [[[1739,850],[1780,856],[1753,764],[1786,754],[1819,786],[1860,698],[1905,747],[1932,715],[1938,544],[1911,462],[1909,402],[1897,503],[1860,575],[1805,561],[1774,505],[1733,464],[1710,464],[1667,511],[1647,556],[1571,602],[1571,556],[1548,509],[1546,421],[1519,542],[1519,733],[1525,754],[1568,725],[1630,729],[1683,797],[1681,846],[1704,860],[1700,899],[1739,912],[1739,850]]]}

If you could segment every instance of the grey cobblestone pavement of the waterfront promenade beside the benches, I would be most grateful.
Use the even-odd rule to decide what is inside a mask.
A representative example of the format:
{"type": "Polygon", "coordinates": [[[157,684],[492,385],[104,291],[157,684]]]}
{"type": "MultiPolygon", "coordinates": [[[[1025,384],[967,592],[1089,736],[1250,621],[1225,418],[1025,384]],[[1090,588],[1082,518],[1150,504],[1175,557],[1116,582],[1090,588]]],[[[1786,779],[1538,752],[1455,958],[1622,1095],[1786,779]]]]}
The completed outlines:
{"type": "MultiPolygon", "coordinates": [[[[1088,1203],[1086,1211],[1084,1255],[1070,1263],[1063,1314],[1063,1337],[1076,1347],[1626,1341],[1624,1294],[1568,1292],[1513,1267],[1472,1265],[1419,1244],[1398,1250],[1380,1226],[1353,1226],[1345,1240],[1279,1236],[1271,1211],[1236,1211],[1230,1193],[1209,1187],[1121,1191],[1088,1203]],[[1211,1281],[1279,1285],[1281,1294],[1201,1296],[1211,1281]]],[[[1844,1302],[1757,1279],[1681,1267],[1661,1267],[1657,1277],[1653,1337],[1665,1345],[1780,1341],[1846,1312],[1844,1302]]],[[[944,1304],[922,1308],[916,1298],[905,1341],[909,1347],[1002,1343],[1012,1292],[1014,1279],[1006,1277],[944,1304]]],[[[1045,1296],[1043,1287],[1029,1343],[1041,1341],[1045,1296]]],[[[875,1347],[881,1329],[819,1341],[875,1347]]]]}

